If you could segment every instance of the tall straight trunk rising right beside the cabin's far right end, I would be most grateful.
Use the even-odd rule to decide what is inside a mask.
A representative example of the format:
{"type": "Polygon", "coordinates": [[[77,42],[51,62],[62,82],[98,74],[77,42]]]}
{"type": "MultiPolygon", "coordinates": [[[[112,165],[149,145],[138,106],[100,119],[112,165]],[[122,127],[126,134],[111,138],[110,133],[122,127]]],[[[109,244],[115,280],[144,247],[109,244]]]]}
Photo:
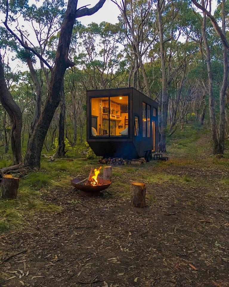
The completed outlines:
{"type": "Polygon", "coordinates": [[[157,1],[157,16],[158,16],[158,28],[159,28],[159,40],[160,40],[160,54],[161,54],[161,72],[162,72],[162,107],[161,107],[161,136],[159,142],[159,151],[166,151],[166,129],[167,129],[167,117],[168,117],[168,94],[167,94],[167,79],[166,79],[166,67],[165,67],[165,49],[163,39],[163,26],[161,21],[161,3],[157,1]]]}

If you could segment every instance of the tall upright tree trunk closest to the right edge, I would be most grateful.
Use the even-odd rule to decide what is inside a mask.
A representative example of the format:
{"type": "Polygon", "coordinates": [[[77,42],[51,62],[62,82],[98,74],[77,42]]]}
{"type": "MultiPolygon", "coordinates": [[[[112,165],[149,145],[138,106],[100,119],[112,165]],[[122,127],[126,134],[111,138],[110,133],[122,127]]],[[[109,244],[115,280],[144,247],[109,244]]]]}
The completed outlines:
{"type": "MultiPolygon", "coordinates": [[[[225,0],[222,0],[222,33],[225,35],[225,0]]],[[[219,97],[219,142],[217,146],[217,153],[224,152],[225,140],[225,93],[228,86],[228,51],[223,46],[223,82],[220,89],[219,97]]]]}

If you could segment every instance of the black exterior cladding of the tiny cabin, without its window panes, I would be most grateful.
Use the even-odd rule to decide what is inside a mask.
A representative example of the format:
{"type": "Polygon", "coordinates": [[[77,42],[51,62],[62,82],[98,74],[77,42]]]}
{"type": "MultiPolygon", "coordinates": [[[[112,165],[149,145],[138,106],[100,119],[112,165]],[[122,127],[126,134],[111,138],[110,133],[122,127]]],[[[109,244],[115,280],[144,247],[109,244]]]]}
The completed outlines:
{"type": "MultiPolygon", "coordinates": [[[[117,88],[117,89],[104,89],[104,90],[90,90],[86,92],[87,95],[87,142],[91,146],[96,155],[109,157],[123,157],[123,158],[136,158],[143,157],[144,152],[151,151],[153,146],[157,152],[158,145],[158,104],[137,91],[134,88],[117,88]],[[99,97],[115,97],[115,96],[128,96],[128,136],[111,136],[110,135],[110,114],[109,114],[109,133],[108,136],[92,136],[92,112],[91,112],[91,99],[99,97]],[[143,114],[142,103],[150,106],[150,137],[143,138],[143,114]],[[138,117],[139,122],[139,136],[134,135],[134,121],[138,117]],[[152,123],[154,121],[154,125],[152,123]],[[152,128],[155,126],[155,130],[152,128]],[[155,138],[154,138],[155,135],[155,138]]],[[[148,111],[147,111],[148,112],[148,111]]],[[[146,112],[146,115],[147,115],[146,112]]],[[[109,101],[110,113],[110,101],[109,101]]],[[[146,119],[147,120],[147,119],[146,119]]],[[[146,122],[146,126],[147,126],[146,122]]]]}

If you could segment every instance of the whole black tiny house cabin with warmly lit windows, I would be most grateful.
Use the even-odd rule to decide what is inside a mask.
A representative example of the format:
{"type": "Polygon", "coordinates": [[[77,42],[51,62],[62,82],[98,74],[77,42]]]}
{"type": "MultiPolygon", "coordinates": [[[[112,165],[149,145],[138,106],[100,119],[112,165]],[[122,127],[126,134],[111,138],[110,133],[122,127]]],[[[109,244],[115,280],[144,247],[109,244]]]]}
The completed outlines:
{"type": "Polygon", "coordinates": [[[158,105],[134,88],[91,90],[87,142],[98,156],[151,159],[157,152],[158,105]]]}

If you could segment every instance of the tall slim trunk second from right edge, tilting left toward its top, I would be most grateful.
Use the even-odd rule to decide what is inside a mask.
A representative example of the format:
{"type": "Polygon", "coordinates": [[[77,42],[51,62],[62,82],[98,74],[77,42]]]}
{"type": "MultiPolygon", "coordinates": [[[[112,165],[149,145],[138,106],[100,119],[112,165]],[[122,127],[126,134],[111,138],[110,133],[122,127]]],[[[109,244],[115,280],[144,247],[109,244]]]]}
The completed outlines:
{"type": "MultiPolygon", "coordinates": [[[[202,5],[204,5],[204,0],[202,0],[202,5]]],[[[213,98],[213,89],[212,89],[211,55],[210,55],[210,48],[209,48],[208,40],[206,36],[206,13],[203,13],[202,37],[203,37],[205,50],[206,50],[206,60],[207,60],[207,69],[208,69],[208,95],[209,95],[209,114],[210,114],[210,123],[211,123],[212,149],[213,149],[213,154],[216,154],[217,145],[218,145],[218,132],[217,132],[217,125],[216,125],[214,98],[213,98]]]]}

